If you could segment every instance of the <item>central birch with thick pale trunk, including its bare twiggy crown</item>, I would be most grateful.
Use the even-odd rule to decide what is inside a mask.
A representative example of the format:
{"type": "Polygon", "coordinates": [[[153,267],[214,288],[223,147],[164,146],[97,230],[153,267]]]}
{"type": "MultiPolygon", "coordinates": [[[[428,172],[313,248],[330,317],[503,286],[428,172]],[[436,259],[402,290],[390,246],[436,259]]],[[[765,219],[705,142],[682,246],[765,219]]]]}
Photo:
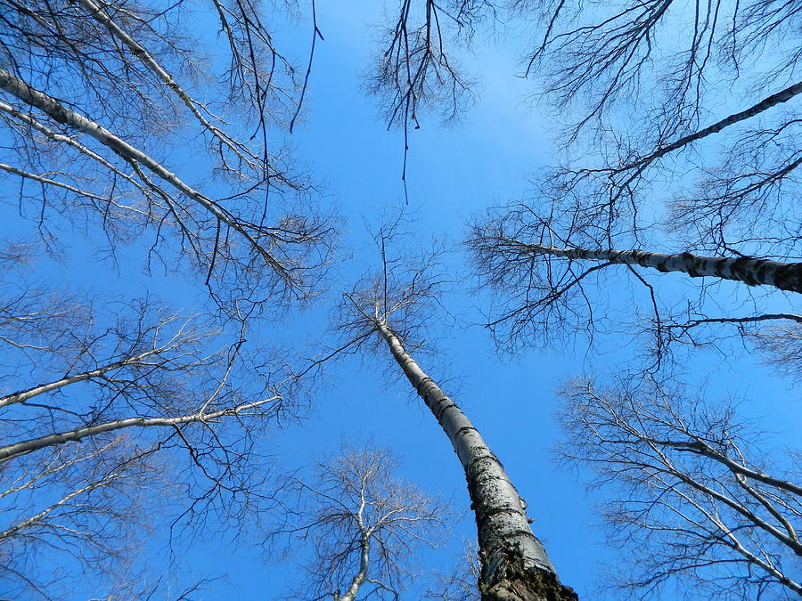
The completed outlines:
{"type": "Polygon", "coordinates": [[[576,593],[560,583],[543,545],[532,533],[526,503],[501,461],[471,420],[406,350],[410,338],[421,333],[413,329],[415,320],[430,313],[431,304],[437,302],[439,282],[431,269],[424,268],[437,264],[437,256],[389,256],[387,245],[397,238],[398,226],[397,222],[378,232],[381,272],[345,295],[340,329],[357,347],[378,339],[377,351],[389,351],[454,447],[476,517],[481,597],[576,599],[576,593]]]}

